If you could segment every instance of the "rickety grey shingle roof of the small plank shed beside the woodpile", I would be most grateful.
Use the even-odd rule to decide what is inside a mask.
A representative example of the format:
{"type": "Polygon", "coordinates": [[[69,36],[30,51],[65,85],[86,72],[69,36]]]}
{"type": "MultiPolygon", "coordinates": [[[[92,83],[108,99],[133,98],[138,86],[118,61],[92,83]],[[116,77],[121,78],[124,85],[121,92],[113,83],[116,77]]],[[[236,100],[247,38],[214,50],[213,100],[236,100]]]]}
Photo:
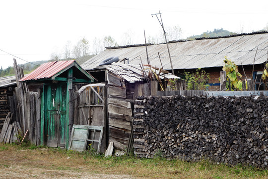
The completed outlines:
{"type": "MultiPolygon", "coordinates": [[[[134,83],[134,82],[139,82],[143,81],[145,77],[142,76],[142,70],[140,66],[133,65],[133,64],[123,64],[123,63],[112,63],[111,65],[104,65],[101,66],[100,68],[106,68],[107,70],[113,72],[114,74],[118,75],[119,77],[123,78],[124,80],[134,83]]],[[[146,74],[149,72],[149,68],[145,67],[143,69],[146,74]]],[[[159,70],[154,70],[152,69],[153,72],[155,72],[157,75],[159,74],[159,70]]],[[[164,79],[164,74],[160,73],[160,78],[164,79]]],[[[165,74],[166,79],[180,79],[180,77],[177,77],[172,74],[165,74]]]]}

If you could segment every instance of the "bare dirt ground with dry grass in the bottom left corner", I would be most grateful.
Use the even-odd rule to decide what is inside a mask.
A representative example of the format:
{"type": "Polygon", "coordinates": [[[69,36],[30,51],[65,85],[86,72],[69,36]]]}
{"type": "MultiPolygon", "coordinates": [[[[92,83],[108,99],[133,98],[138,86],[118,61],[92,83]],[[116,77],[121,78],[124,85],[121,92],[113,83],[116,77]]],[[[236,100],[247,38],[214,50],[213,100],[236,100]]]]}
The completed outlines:
{"type": "Polygon", "coordinates": [[[0,150],[0,179],[134,179],[80,163],[45,150],[0,150]]]}

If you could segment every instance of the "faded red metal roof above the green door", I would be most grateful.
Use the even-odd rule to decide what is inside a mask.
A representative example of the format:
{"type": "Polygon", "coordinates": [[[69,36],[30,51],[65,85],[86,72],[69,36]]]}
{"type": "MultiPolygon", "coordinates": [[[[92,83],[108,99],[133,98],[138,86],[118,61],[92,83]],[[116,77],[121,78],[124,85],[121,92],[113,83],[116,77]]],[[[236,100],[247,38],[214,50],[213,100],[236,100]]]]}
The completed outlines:
{"type": "Polygon", "coordinates": [[[48,62],[42,64],[40,67],[35,69],[33,72],[28,74],[27,76],[23,77],[19,81],[27,81],[27,80],[38,80],[38,79],[47,79],[52,77],[53,75],[57,74],[58,72],[62,71],[70,64],[72,64],[74,60],[67,60],[67,61],[55,61],[55,62],[48,62]]]}

